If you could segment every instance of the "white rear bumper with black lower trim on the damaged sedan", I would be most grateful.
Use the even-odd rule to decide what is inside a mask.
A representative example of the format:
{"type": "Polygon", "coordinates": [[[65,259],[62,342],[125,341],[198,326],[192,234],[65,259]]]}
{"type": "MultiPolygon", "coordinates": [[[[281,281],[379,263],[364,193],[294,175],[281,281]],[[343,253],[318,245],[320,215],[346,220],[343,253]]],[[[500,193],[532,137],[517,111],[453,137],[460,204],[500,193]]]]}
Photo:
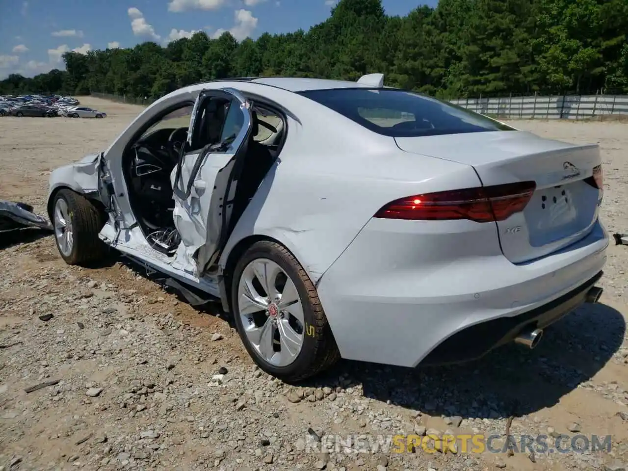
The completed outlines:
{"type": "Polygon", "coordinates": [[[415,367],[480,357],[524,325],[544,327],[580,305],[609,244],[596,222],[570,247],[516,265],[496,231],[490,239],[474,234],[475,223],[414,223],[372,219],[320,279],[343,358],[415,367]],[[469,336],[474,348],[462,344],[469,336]]]}

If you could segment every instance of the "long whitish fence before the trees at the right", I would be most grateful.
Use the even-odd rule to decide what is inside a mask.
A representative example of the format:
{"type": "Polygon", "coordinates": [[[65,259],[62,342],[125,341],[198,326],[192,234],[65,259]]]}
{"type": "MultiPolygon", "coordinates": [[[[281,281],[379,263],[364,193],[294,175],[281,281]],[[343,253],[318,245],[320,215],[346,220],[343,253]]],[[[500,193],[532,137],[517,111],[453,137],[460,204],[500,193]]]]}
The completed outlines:
{"type": "Polygon", "coordinates": [[[503,98],[461,98],[453,104],[490,116],[519,119],[588,119],[628,115],[627,95],[556,95],[503,98]]]}

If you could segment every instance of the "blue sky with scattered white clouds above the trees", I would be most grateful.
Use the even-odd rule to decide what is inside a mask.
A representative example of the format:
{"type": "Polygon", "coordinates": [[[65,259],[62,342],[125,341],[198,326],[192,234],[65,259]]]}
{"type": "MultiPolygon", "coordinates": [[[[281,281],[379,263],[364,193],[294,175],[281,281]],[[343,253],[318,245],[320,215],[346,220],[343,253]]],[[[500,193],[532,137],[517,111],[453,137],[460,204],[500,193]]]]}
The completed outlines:
{"type": "MultiPolygon", "coordinates": [[[[419,3],[383,0],[387,14],[419,3]]],[[[324,21],[335,0],[0,0],[0,79],[63,68],[61,55],[168,41],[203,30],[237,40],[287,33],[324,21]]]]}

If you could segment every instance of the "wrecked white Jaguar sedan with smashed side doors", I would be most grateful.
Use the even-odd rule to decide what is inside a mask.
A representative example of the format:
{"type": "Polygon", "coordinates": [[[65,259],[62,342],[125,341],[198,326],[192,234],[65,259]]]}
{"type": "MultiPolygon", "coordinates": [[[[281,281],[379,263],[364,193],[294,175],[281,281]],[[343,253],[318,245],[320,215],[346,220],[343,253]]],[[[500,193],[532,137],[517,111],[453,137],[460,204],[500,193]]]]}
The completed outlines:
{"type": "Polygon", "coordinates": [[[596,302],[596,145],[358,82],[234,78],[157,100],[55,170],[70,264],[107,246],[222,300],[264,371],[475,359],[596,302]]]}

